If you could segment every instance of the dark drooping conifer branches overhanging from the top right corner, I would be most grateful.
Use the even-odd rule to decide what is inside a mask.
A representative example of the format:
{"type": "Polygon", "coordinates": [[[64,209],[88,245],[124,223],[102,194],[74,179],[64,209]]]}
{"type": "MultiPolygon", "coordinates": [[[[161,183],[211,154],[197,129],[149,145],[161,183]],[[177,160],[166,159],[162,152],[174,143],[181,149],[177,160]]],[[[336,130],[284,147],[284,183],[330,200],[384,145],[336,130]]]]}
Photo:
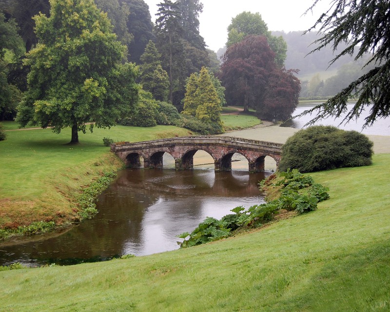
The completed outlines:
{"type": "MultiPolygon", "coordinates": [[[[315,0],[310,11],[318,2],[315,0]]],[[[320,26],[320,39],[315,41],[318,47],[312,53],[331,45],[336,56],[331,62],[345,55],[353,55],[355,61],[370,53],[372,58],[365,64],[375,67],[368,73],[352,81],[334,97],[315,106],[303,114],[312,114],[310,124],[329,116],[340,117],[349,122],[360,116],[363,110],[370,110],[363,127],[372,125],[377,118],[390,115],[390,2],[387,0],[335,0],[331,8],[323,13],[307,31],[320,26]],[[341,52],[337,47],[346,43],[341,52]],[[358,100],[348,111],[348,99],[357,96],[358,100]]],[[[306,33],[307,33],[306,32],[306,33]]]]}

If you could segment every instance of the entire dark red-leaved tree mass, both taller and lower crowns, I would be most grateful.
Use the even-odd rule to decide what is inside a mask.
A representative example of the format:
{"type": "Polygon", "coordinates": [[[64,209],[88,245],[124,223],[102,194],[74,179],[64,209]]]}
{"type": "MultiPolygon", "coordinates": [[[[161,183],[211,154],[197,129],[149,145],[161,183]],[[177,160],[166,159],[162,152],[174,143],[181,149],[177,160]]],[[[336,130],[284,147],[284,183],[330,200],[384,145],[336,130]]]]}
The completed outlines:
{"type": "Polygon", "coordinates": [[[293,70],[280,69],[264,36],[247,36],[223,56],[220,79],[230,104],[254,108],[264,119],[291,117],[300,92],[293,70]]]}

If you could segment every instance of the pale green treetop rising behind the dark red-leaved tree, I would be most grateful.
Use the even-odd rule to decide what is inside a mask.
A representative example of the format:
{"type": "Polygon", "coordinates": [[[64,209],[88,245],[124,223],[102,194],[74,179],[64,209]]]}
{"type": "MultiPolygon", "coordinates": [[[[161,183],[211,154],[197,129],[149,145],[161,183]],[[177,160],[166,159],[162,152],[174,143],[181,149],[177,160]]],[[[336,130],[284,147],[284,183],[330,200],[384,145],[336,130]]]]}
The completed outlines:
{"type": "Polygon", "coordinates": [[[287,53],[287,43],[282,36],[273,36],[268,30],[268,26],[261,18],[259,13],[242,12],[232,19],[228,26],[228,41],[226,46],[229,47],[242,41],[246,36],[265,36],[271,50],[275,53],[275,62],[279,67],[283,67],[287,53]]]}

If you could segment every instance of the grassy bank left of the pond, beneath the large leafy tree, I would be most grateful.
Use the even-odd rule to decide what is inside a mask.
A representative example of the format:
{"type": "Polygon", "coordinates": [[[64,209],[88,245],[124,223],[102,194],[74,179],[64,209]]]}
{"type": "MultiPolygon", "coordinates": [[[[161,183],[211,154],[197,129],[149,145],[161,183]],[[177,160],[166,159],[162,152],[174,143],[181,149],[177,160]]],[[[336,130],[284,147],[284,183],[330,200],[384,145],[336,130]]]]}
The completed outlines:
{"type": "MultiPolygon", "coordinates": [[[[4,122],[17,128],[13,122],[4,122]]],[[[104,172],[117,171],[122,163],[103,145],[115,141],[143,141],[188,136],[174,126],[137,128],[116,126],[80,133],[78,145],[67,145],[70,129],[54,134],[50,129],[7,131],[0,141],[0,228],[33,221],[72,222],[75,200],[81,190],[104,172]]]]}

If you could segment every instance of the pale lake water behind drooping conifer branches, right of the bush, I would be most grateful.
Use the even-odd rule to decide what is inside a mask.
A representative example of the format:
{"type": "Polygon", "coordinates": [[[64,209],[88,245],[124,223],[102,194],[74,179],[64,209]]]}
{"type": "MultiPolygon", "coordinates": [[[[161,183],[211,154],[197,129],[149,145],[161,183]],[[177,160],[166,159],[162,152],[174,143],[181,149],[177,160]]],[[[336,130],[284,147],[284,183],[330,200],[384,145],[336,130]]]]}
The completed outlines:
{"type": "MultiPolygon", "coordinates": [[[[302,114],[304,111],[311,109],[312,107],[321,104],[321,102],[311,102],[311,103],[305,103],[305,105],[299,105],[292,116],[297,116],[299,114],[302,114]]],[[[354,103],[351,102],[351,104],[347,105],[347,111],[349,112],[353,108],[354,103]]],[[[296,129],[301,129],[307,124],[312,118],[315,117],[314,115],[306,115],[299,118],[294,118],[287,120],[285,123],[283,123],[282,127],[292,127],[296,129]]],[[[345,114],[346,115],[346,114],[345,114]]],[[[390,136],[390,124],[389,120],[387,119],[376,119],[374,124],[370,127],[367,127],[365,129],[362,129],[363,124],[365,122],[365,118],[369,115],[369,110],[366,109],[366,111],[363,111],[361,116],[355,120],[352,119],[349,123],[345,124],[343,123],[343,117],[339,118],[332,118],[328,117],[324,120],[318,120],[315,124],[316,125],[330,125],[338,127],[339,129],[343,130],[355,130],[358,132],[361,132],[366,135],[378,135],[378,136],[390,136]]]]}

